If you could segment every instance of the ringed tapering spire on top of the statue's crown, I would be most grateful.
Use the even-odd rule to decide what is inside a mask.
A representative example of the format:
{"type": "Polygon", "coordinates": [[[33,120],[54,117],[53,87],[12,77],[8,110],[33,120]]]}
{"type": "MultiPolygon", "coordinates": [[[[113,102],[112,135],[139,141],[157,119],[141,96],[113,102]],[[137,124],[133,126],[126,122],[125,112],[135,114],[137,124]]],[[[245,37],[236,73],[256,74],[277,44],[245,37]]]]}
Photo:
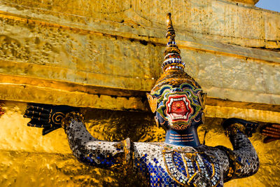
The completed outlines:
{"type": "Polygon", "coordinates": [[[181,70],[185,63],[181,61],[180,50],[175,42],[175,30],[172,25],[171,13],[167,13],[167,48],[165,49],[165,61],[162,63],[163,71],[181,70]]]}

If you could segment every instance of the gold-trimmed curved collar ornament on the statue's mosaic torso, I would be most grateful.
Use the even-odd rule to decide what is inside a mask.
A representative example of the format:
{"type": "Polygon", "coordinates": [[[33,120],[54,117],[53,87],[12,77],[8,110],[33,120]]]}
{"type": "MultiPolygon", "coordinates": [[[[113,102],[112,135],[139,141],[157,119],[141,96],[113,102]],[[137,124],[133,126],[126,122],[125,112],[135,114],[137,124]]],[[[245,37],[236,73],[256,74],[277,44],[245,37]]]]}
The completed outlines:
{"type": "Polygon", "coordinates": [[[218,186],[221,179],[218,162],[196,151],[162,151],[165,169],[181,186],[218,186]]]}

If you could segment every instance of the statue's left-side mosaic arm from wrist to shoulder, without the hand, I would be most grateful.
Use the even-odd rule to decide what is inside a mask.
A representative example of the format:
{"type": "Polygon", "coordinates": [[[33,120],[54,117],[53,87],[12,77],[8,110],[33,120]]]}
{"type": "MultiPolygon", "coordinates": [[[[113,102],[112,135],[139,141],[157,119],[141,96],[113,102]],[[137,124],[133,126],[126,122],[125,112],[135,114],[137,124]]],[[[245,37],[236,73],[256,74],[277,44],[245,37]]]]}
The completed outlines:
{"type": "Polygon", "coordinates": [[[131,166],[132,142],[101,141],[87,131],[78,113],[67,113],[62,121],[73,155],[83,163],[104,169],[129,169],[131,166]]]}

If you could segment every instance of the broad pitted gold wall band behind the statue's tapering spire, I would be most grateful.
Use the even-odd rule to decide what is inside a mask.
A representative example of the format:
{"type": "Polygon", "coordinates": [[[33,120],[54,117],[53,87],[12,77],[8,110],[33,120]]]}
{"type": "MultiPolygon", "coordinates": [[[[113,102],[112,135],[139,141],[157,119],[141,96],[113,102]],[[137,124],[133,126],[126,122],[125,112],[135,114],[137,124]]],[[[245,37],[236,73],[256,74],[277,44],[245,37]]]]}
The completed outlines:
{"type": "MultiPolygon", "coordinates": [[[[14,19],[14,15],[10,18],[10,15],[7,17],[4,14],[3,18],[11,19],[11,25],[5,22],[5,27],[10,27],[8,30],[12,29],[15,33],[10,33],[7,30],[7,35],[1,36],[4,43],[0,50],[2,54],[0,57],[2,59],[0,60],[1,74],[141,91],[151,90],[156,78],[160,75],[161,52],[164,49],[166,39],[149,38],[148,36],[138,36],[127,32],[90,31],[76,27],[42,23],[27,18],[16,17],[14,19]],[[26,29],[25,33],[28,36],[18,35],[16,32],[18,27],[15,24],[18,24],[18,27],[22,29],[26,29]],[[50,43],[55,39],[61,39],[61,36],[56,36],[56,32],[53,32],[54,36],[49,38],[45,35],[38,36],[38,32],[41,31],[34,27],[37,24],[43,25],[40,28],[45,29],[45,32],[52,33],[51,29],[56,28],[59,29],[59,32],[64,32],[63,34],[66,37],[68,37],[68,34],[73,34],[73,37],[68,38],[66,43],[62,41],[50,43]],[[85,37],[88,38],[88,46],[80,46],[82,43],[75,41],[76,39],[85,40],[85,37]],[[91,41],[92,37],[96,40],[91,41]],[[34,40],[34,43],[30,43],[32,40],[34,40]],[[36,41],[39,43],[36,43],[36,41]],[[43,48],[42,43],[45,43],[43,48]],[[69,48],[69,43],[71,45],[74,43],[76,46],[69,48]],[[25,48],[20,46],[25,46],[25,48]],[[29,47],[26,48],[26,46],[29,47]],[[97,48],[97,46],[102,47],[97,48]],[[127,48],[127,46],[130,46],[130,48],[127,48]],[[135,53],[134,48],[141,49],[141,53],[135,53]],[[15,54],[8,52],[9,50],[13,50],[15,54]],[[32,53],[28,53],[28,51],[32,53]],[[125,54],[124,51],[129,55],[125,54]],[[98,59],[97,57],[100,55],[102,57],[98,59]],[[113,60],[111,60],[112,57],[113,60]],[[146,62],[142,62],[144,59],[146,62]],[[123,66],[124,61],[126,62],[125,66],[123,66]],[[98,69],[95,67],[98,67],[98,69]],[[141,67],[141,69],[138,67],[141,67]]],[[[180,37],[179,33],[179,39],[180,37]]],[[[188,38],[184,39],[188,40],[188,38]]],[[[210,97],[242,102],[278,103],[278,99],[274,100],[270,97],[260,97],[261,99],[256,101],[242,100],[234,97],[235,92],[230,91],[232,93],[227,92],[221,95],[221,92],[216,92],[211,88],[226,88],[228,90],[238,90],[238,92],[241,90],[241,92],[254,92],[260,95],[279,95],[278,88],[280,85],[277,84],[276,80],[279,79],[277,72],[280,67],[280,53],[214,43],[213,41],[197,43],[195,40],[179,40],[177,42],[180,43],[179,47],[182,50],[183,60],[187,61],[186,71],[203,88],[206,88],[204,90],[209,92],[210,97]],[[230,64],[235,69],[232,69],[230,64]],[[223,71],[223,74],[218,71],[223,71]],[[209,77],[214,72],[217,73],[216,76],[221,74],[221,77],[217,77],[218,80],[209,77]],[[252,80],[253,77],[255,79],[252,80]],[[243,83],[244,79],[248,80],[246,84],[243,83]],[[255,83],[255,80],[260,84],[255,83]]]]}

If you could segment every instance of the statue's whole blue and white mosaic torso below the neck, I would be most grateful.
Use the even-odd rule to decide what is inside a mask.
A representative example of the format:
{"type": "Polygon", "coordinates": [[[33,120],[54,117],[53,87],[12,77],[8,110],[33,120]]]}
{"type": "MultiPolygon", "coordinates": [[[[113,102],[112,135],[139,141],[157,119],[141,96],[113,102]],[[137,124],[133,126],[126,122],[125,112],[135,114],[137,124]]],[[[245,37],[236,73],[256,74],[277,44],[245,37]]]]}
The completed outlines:
{"type": "Polygon", "coordinates": [[[223,186],[218,160],[203,151],[164,145],[151,152],[143,152],[134,162],[150,186],[223,186]]]}

